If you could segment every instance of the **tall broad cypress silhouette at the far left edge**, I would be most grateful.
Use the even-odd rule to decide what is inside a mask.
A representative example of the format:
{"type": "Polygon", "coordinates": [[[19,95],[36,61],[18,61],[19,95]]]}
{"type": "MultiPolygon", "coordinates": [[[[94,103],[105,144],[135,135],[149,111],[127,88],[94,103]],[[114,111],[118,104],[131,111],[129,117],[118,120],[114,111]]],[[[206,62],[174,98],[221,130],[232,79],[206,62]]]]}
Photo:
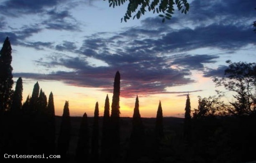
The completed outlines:
{"type": "Polygon", "coordinates": [[[13,94],[13,67],[12,47],[9,38],[6,37],[0,51],[0,113],[10,110],[13,94]]]}

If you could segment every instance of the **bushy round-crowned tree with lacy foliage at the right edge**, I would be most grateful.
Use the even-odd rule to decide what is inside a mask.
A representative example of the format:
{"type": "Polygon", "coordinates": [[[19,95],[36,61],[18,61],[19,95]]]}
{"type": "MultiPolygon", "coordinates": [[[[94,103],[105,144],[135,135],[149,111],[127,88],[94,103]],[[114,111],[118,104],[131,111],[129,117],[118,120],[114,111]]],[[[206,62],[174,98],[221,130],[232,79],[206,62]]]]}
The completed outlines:
{"type": "Polygon", "coordinates": [[[250,115],[256,113],[256,63],[231,62],[225,69],[222,78],[215,78],[216,86],[224,86],[228,91],[235,93],[235,102],[228,112],[233,115],[250,115]]]}

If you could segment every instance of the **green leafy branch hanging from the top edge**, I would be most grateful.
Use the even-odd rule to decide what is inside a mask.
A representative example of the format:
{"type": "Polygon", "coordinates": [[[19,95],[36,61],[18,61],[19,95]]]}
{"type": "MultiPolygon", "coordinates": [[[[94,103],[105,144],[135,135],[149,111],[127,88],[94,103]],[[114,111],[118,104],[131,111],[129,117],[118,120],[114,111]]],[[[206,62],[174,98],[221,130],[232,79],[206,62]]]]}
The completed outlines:
{"type": "MultiPolygon", "coordinates": [[[[128,0],[108,0],[108,3],[109,7],[115,8],[116,6],[123,5],[126,1],[128,0]]],[[[165,19],[171,19],[175,5],[178,10],[187,14],[189,10],[187,0],[129,0],[126,13],[123,18],[121,18],[121,22],[123,22],[123,20],[127,22],[130,18],[139,19],[146,11],[159,14],[159,16],[163,18],[162,22],[164,22],[165,19]],[[132,15],[133,13],[135,14],[132,15]]]]}

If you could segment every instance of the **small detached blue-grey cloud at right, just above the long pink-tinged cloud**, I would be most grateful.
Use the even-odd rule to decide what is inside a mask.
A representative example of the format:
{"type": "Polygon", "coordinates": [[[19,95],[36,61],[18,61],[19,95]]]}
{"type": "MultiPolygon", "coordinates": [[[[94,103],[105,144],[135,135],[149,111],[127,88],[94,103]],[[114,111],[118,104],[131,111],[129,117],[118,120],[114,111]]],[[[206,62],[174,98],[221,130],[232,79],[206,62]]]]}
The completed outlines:
{"type": "Polygon", "coordinates": [[[188,69],[202,70],[204,68],[204,64],[216,63],[214,59],[218,59],[219,56],[207,55],[207,54],[192,56],[187,54],[187,55],[174,56],[172,58],[174,58],[174,61],[172,62],[172,64],[184,66],[184,67],[187,67],[188,69]]]}

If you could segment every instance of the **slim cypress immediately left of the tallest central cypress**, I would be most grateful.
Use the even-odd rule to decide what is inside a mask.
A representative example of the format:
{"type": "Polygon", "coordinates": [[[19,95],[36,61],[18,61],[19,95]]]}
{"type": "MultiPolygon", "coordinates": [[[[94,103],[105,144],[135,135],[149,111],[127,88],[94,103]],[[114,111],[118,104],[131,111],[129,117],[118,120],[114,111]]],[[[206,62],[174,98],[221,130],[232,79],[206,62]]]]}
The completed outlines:
{"type": "Polygon", "coordinates": [[[110,148],[110,104],[108,94],[105,99],[103,124],[102,124],[102,140],[101,140],[101,158],[102,161],[109,162],[109,148],[110,148]]]}

